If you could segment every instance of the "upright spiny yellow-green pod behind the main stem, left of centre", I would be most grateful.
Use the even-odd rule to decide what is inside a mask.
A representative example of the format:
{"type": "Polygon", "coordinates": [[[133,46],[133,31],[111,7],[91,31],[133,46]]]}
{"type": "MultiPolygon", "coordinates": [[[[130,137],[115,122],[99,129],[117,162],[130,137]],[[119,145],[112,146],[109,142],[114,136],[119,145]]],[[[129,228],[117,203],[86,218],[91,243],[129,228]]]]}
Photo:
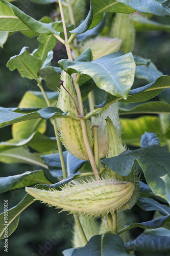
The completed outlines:
{"type": "MultiPolygon", "coordinates": [[[[64,87],[75,99],[75,102],[78,106],[78,99],[72,77],[68,75],[65,71],[63,71],[61,74],[61,80],[64,81],[64,87]]],[[[59,91],[57,108],[61,109],[63,112],[68,111],[68,115],[78,117],[74,101],[71,99],[70,95],[64,90],[63,87],[61,87],[59,91]]],[[[88,160],[88,154],[83,140],[80,121],[72,118],[56,118],[56,125],[59,131],[60,139],[65,148],[77,158],[82,160],[88,160]]],[[[86,121],[86,125],[89,143],[91,146],[91,150],[93,151],[92,125],[88,120],[86,121]]]]}

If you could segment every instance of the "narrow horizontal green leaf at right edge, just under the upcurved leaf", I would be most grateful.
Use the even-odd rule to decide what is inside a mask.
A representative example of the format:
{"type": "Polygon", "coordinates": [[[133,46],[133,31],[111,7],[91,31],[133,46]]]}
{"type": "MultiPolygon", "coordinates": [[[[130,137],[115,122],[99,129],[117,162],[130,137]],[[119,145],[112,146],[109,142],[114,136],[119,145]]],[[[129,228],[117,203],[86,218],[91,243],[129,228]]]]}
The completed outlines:
{"type": "Polygon", "coordinates": [[[170,104],[162,101],[149,101],[146,103],[120,103],[119,104],[120,115],[127,114],[170,114],[170,104]]]}

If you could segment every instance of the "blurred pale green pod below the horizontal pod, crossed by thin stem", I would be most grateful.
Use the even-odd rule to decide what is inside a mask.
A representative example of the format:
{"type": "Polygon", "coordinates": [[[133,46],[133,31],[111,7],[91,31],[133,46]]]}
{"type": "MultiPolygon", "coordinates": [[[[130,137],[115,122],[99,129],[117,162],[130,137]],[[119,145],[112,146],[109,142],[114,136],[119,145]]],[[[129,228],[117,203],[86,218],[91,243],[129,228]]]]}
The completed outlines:
{"type": "MultiPolygon", "coordinates": [[[[95,236],[96,234],[99,234],[98,221],[96,221],[95,219],[88,219],[83,216],[80,216],[79,220],[88,241],[90,240],[91,237],[95,236]]],[[[84,247],[84,246],[85,244],[84,244],[84,241],[82,240],[81,233],[79,231],[78,226],[75,223],[72,230],[72,247],[77,248],[77,247],[84,247]]]]}

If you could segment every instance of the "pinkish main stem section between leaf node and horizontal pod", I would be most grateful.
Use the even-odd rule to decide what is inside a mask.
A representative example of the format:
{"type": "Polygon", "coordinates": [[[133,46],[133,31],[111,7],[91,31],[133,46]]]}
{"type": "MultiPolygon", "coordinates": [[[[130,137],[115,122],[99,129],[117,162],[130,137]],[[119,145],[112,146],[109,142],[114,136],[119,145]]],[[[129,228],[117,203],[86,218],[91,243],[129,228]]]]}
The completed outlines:
{"type": "Polygon", "coordinates": [[[81,126],[82,126],[82,134],[83,134],[83,139],[84,139],[84,144],[87,150],[88,158],[91,164],[91,167],[93,169],[93,173],[96,179],[99,179],[99,174],[98,174],[98,167],[95,164],[94,156],[91,151],[90,143],[88,140],[88,135],[87,135],[87,127],[86,127],[86,121],[84,120],[83,117],[80,118],[81,126]]]}

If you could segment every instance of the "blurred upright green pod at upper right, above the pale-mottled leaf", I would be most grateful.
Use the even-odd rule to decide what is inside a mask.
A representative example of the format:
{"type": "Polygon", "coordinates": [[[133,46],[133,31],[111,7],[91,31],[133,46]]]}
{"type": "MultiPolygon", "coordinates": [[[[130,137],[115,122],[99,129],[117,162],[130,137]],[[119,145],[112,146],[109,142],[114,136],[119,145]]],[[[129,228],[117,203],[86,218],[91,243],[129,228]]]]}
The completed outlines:
{"type": "Polygon", "coordinates": [[[135,28],[129,14],[116,13],[109,36],[122,39],[120,50],[131,52],[135,44],[135,28]]]}

